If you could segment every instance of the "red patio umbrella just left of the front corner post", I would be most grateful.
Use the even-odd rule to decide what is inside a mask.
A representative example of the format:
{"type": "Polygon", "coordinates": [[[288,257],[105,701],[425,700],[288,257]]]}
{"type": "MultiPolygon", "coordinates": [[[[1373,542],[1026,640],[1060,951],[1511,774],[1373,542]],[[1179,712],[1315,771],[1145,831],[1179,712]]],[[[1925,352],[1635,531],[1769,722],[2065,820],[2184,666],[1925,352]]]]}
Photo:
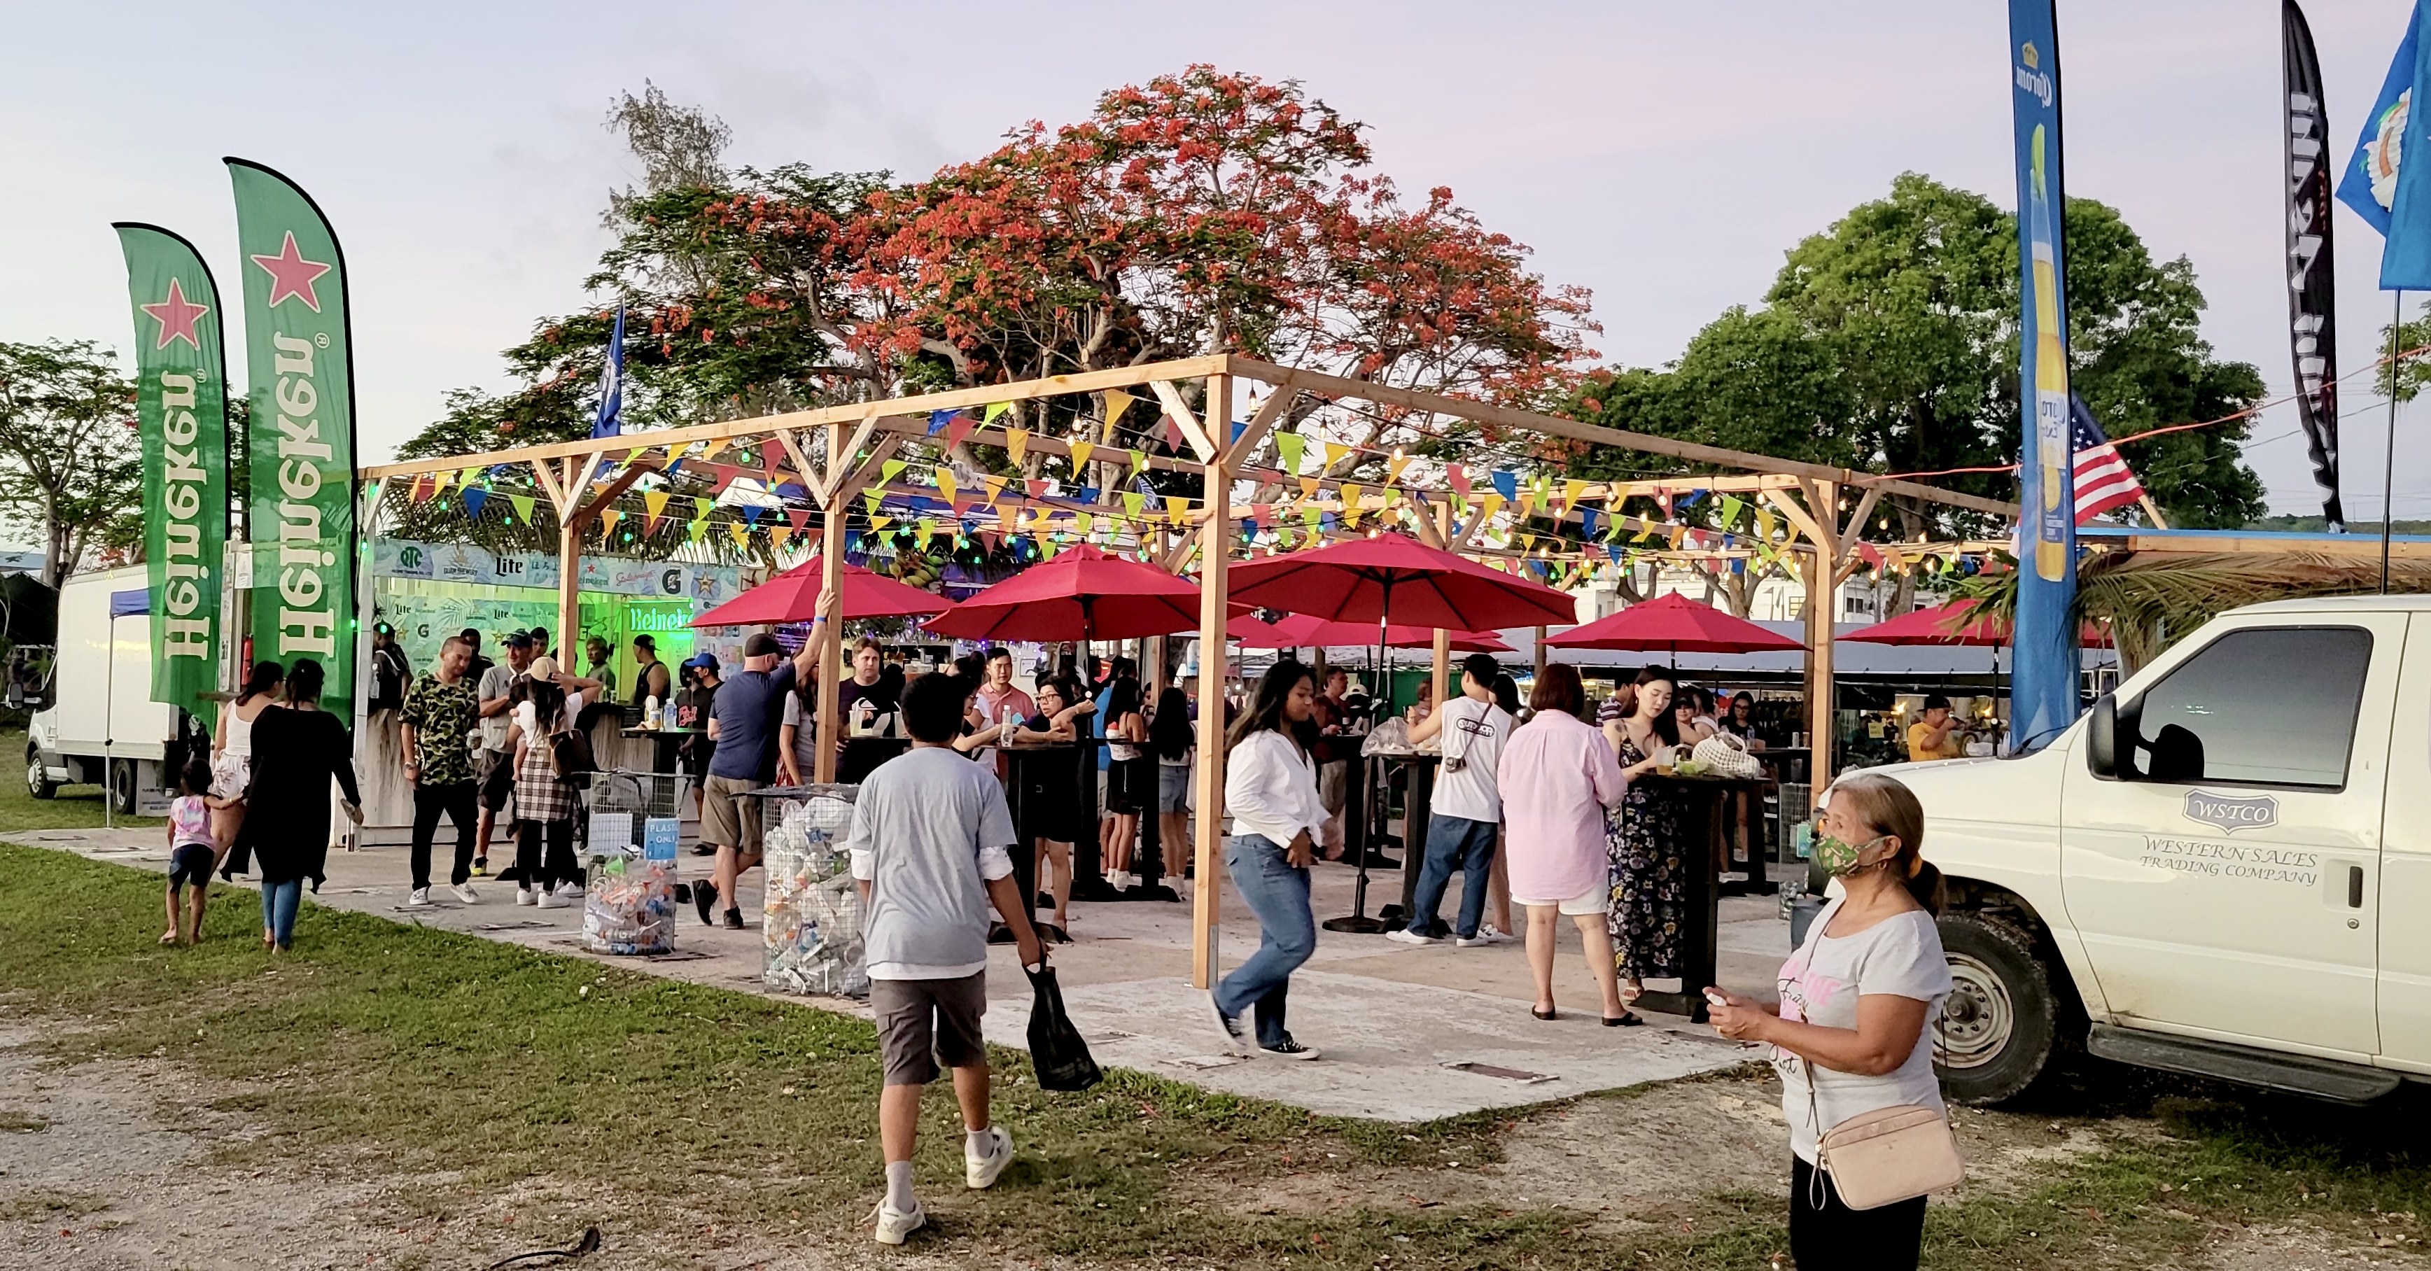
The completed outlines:
{"type": "Polygon", "coordinates": [[[1198,627],[1198,588],[1079,544],[929,620],[955,639],[1130,639],[1198,627]]]}

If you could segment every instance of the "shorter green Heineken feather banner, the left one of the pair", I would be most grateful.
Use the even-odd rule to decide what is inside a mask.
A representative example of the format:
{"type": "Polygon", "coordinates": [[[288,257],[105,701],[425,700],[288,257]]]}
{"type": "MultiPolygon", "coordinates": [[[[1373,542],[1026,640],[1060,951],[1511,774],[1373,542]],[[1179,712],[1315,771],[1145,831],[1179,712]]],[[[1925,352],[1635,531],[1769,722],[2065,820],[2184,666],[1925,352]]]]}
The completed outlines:
{"type": "Polygon", "coordinates": [[[143,571],[151,583],[153,702],[211,714],[219,688],[221,564],[229,542],[229,360],[219,287],[194,245],[119,224],[136,316],[143,433],[143,571]]]}

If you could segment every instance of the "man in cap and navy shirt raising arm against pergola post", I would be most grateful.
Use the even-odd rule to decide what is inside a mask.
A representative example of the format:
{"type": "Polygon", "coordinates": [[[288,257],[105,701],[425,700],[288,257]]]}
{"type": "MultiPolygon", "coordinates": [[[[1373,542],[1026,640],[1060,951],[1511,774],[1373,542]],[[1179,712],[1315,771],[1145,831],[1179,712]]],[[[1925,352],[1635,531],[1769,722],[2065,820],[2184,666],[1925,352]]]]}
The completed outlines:
{"type": "MultiPolygon", "coordinates": [[[[819,612],[829,612],[827,598],[819,612]]],[[[819,666],[819,646],[827,642],[827,620],[810,625],[802,651],[785,661],[783,646],[768,632],[756,632],[744,642],[744,668],[717,685],[717,702],[710,712],[710,775],[700,790],[700,841],[717,848],[717,870],[705,885],[693,885],[693,906],[700,921],[710,921],[710,909],[727,902],[727,926],[741,931],[744,911],[734,899],[734,880],[761,860],[761,809],[749,797],[775,780],[775,744],[785,712],[785,695],[797,678],[807,680],[819,666]],[[783,666],[778,666],[783,661],[783,666]]],[[[712,661],[715,666],[715,661],[712,661]]]]}

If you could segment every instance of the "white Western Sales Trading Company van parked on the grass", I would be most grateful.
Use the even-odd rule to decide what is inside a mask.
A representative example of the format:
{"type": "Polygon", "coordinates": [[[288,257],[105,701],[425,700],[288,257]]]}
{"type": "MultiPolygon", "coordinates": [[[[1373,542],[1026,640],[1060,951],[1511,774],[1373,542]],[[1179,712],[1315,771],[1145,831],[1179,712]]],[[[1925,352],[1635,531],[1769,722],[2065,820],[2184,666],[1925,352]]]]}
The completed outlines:
{"type": "Polygon", "coordinates": [[[1889,773],[1950,880],[1955,1098],[2069,1047],[2348,1103],[2431,1077],[2431,598],[2232,610],[2042,751],[1889,773]]]}

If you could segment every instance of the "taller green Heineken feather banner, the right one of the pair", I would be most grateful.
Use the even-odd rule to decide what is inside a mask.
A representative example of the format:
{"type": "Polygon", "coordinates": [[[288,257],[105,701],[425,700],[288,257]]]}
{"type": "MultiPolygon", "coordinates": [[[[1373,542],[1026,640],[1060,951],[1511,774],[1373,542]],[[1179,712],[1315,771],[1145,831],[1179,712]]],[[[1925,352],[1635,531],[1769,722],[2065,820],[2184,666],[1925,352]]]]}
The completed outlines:
{"type": "Polygon", "coordinates": [[[328,676],[323,710],[355,702],[355,365],[345,260],[294,182],[241,158],[246,384],[253,423],[253,656],[328,676]]]}

